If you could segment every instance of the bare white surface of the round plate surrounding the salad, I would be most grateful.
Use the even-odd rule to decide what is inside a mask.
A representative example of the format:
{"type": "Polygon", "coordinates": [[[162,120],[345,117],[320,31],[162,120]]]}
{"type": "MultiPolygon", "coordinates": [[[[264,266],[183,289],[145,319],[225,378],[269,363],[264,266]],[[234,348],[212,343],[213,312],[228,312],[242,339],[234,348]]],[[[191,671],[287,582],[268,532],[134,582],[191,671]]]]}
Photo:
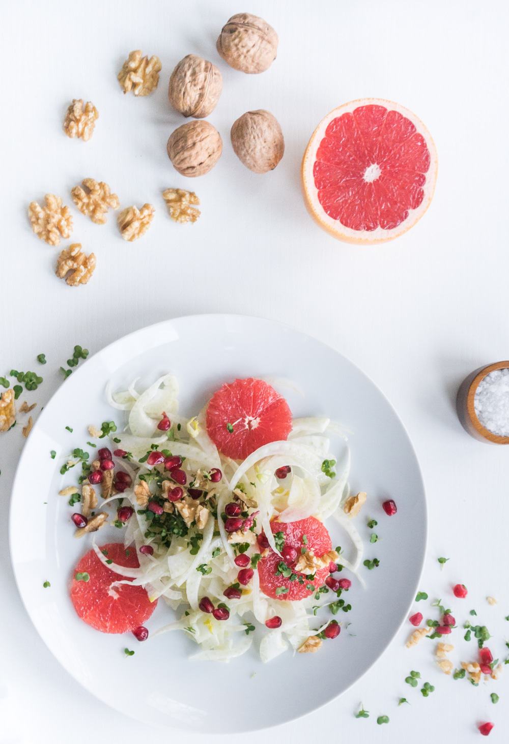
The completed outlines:
{"type": "MultiPolygon", "coordinates": [[[[144,722],[208,734],[233,733],[309,713],[343,693],[371,667],[414,599],[426,548],[426,521],[423,481],[409,436],[394,409],[359,369],[319,341],[272,321],[196,315],[115,341],[63,383],[39,416],[19,461],[10,507],[10,551],[19,591],[36,629],[87,690],[144,722]],[[123,412],[106,403],[106,382],[112,380],[116,389],[139,376],[148,385],[168,371],[179,379],[184,413],[199,411],[225,381],[272,376],[291,379],[303,391],[301,395],[279,388],[295,416],[325,414],[351,432],[350,487],[354,493],[368,493],[356,522],[367,544],[366,557],[379,558],[380,567],[368,571],[361,565],[367,588],[353,580],[348,593],[353,609],[336,616],[343,623],[342,633],[321,651],[286,652],[262,664],[255,643],[229,664],[189,661],[196,645],[181,633],[140,644],[131,634],[97,632],[75,615],[68,586],[89,542],[74,539],[72,509],[58,492],[75,484],[76,478],[72,470],[60,475],[60,465],[74,447],[94,452],[86,446],[89,424],[112,419],[122,423],[123,412]],[[55,460],[50,457],[52,449],[57,452],[55,460]],[[397,503],[397,514],[390,518],[382,510],[385,498],[397,503]],[[370,518],[377,519],[382,537],[376,545],[368,541],[370,518]],[[43,589],[45,580],[51,588],[43,589]],[[124,655],[124,647],[135,650],[135,655],[124,655]],[[320,684],[295,684],[291,694],[275,694],[275,680],[306,678],[320,684]]],[[[348,557],[348,537],[340,527],[331,528],[331,533],[333,545],[341,541],[348,557]]],[[[100,536],[103,542],[120,537],[115,527],[104,528],[100,536]]],[[[160,601],[147,624],[156,629],[172,615],[160,601]]]]}

